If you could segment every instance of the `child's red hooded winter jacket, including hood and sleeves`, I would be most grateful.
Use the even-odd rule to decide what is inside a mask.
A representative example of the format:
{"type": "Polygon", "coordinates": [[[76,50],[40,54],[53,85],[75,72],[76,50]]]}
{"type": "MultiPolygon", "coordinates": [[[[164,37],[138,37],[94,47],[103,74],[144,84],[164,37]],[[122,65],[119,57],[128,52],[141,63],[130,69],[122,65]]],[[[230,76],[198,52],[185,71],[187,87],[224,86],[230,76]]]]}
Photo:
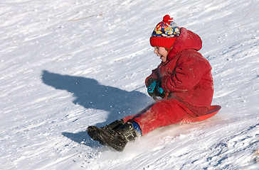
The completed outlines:
{"type": "Polygon", "coordinates": [[[159,64],[147,77],[161,80],[164,91],[196,115],[208,111],[213,97],[211,65],[198,52],[201,47],[199,35],[181,28],[181,34],[167,56],[168,61],[159,64]]]}

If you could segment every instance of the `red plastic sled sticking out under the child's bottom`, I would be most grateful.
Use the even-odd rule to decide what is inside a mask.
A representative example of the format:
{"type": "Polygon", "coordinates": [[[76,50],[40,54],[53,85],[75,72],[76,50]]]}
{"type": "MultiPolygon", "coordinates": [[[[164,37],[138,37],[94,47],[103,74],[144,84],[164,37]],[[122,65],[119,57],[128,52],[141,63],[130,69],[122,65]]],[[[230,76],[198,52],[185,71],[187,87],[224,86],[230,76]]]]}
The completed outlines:
{"type": "Polygon", "coordinates": [[[184,118],[183,120],[181,120],[181,123],[194,123],[206,120],[208,118],[211,118],[213,115],[216,115],[216,113],[218,113],[219,110],[221,110],[221,106],[213,105],[208,109],[208,113],[206,113],[206,115],[201,115],[199,117],[184,118]]]}

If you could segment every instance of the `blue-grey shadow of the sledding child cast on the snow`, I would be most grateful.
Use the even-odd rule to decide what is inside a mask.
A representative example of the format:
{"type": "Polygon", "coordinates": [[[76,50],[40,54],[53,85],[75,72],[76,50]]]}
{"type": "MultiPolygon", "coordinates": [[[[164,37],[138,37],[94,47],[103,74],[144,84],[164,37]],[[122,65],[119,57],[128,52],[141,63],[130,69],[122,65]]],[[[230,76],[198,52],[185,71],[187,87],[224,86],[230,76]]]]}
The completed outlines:
{"type": "MultiPolygon", "coordinates": [[[[73,101],[75,104],[84,108],[109,112],[106,121],[97,124],[97,126],[107,125],[124,116],[135,114],[152,102],[149,96],[139,91],[125,91],[112,86],[105,86],[99,84],[95,79],[85,77],[72,77],[43,70],[42,81],[55,89],[72,93],[75,96],[73,101]]],[[[63,132],[62,134],[75,142],[85,141],[85,145],[95,147],[85,131],[78,133],[63,132]]]]}

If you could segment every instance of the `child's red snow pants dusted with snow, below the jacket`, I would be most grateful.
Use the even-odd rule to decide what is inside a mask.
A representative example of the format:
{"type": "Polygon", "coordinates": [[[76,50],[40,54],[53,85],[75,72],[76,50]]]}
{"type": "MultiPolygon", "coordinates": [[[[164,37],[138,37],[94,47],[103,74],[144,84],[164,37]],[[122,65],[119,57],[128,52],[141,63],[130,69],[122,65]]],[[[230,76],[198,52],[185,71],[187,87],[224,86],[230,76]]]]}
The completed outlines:
{"type": "Polygon", "coordinates": [[[184,118],[194,117],[186,106],[175,98],[164,101],[158,101],[154,105],[148,106],[136,115],[129,115],[123,118],[124,122],[134,121],[139,124],[142,135],[152,130],[166,125],[172,125],[181,122],[184,118]]]}

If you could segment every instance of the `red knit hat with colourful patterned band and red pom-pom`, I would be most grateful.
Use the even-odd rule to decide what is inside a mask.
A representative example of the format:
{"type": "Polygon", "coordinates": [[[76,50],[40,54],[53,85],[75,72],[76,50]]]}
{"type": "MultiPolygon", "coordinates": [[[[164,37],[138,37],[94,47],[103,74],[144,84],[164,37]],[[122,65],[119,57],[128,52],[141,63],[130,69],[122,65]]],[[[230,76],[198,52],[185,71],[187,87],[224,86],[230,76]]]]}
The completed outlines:
{"type": "Polygon", "coordinates": [[[152,47],[170,47],[174,44],[176,38],[180,35],[180,28],[174,23],[169,15],[163,17],[163,21],[157,24],[150,37],[152,47]]]}

